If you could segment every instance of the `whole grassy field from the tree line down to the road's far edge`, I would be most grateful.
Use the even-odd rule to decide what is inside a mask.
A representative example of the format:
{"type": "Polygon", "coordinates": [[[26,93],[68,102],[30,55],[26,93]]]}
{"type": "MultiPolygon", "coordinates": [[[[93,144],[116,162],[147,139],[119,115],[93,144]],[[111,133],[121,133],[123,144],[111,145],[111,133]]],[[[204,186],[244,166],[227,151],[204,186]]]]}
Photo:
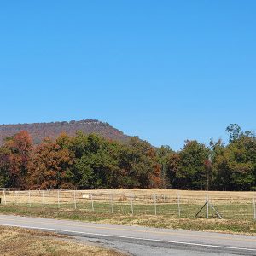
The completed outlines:
{"type": "Polygon", "coordinates": [[[166,189],[0,191],[0,212],[102,224],[143,225],[184,230],[256,234],[253,192],[166,189]],[[206,198],[224,218],[206,208],[206,198]],[[5,204],[6,202],[6,204],[5,204]]]}

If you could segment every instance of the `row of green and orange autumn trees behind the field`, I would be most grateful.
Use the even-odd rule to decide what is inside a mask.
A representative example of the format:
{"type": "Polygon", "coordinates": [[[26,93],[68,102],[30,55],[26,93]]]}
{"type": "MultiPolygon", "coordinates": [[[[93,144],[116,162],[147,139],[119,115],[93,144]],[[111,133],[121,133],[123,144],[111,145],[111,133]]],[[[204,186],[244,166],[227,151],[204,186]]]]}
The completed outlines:
{"type": "Polygon", "coordinates": [[[0,147],[0,187],[254,190],[256,137],[231,124],[229,143],[185,141],[177,152],[138,137],[119,142],[78,131],[33,143],[27,131],[0,147]]]}

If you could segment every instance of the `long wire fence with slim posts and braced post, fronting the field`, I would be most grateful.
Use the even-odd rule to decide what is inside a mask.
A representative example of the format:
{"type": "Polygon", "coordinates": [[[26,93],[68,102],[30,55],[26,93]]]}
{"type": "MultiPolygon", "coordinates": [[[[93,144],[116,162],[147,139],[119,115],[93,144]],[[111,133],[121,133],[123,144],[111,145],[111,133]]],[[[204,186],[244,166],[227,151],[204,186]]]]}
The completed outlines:
{"type": "Polygon", "coordinates": [[[211,194],[170,190],[165,194],[160,190],[158,193],[150,191],[0,189],[0,198],[3,207],[16,205],[171,218],[256,220],[256,197],[252,192],[211,194]]]}

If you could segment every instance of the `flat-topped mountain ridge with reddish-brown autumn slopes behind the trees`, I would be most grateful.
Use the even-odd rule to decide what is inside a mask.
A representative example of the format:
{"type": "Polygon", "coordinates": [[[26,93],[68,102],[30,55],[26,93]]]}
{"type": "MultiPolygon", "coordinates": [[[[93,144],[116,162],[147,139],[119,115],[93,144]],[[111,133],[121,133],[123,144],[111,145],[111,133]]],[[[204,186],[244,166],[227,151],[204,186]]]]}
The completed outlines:
{"type": "Polygon", "coordinates": [[[96,133],[102,137],[120,142],[127,142],[130,138],[130,136],[125,135],[108,123],[96,119],[84,119],[69,122],[0,125],[0,144],[3,144],[5,137],[11,137],[19,131],[28,131],[34,143],[40,143],[45,137],[58,137],[61,132],[73,136],[77,131],[83,131],[85,134],[96,133]]]}

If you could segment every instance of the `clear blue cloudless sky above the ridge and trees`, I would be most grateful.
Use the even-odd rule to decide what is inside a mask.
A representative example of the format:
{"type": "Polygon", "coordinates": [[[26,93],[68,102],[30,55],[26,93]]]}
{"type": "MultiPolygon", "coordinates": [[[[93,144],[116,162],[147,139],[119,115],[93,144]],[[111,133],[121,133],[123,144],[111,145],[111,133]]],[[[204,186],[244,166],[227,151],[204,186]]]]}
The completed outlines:
{"type": "Polygon", "coordinates": [[[0,3],[0,123],[100,119],[158,146],[256,130],[256,1],[0,3]]]}

